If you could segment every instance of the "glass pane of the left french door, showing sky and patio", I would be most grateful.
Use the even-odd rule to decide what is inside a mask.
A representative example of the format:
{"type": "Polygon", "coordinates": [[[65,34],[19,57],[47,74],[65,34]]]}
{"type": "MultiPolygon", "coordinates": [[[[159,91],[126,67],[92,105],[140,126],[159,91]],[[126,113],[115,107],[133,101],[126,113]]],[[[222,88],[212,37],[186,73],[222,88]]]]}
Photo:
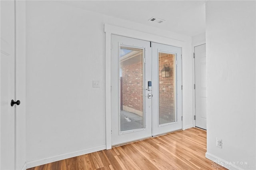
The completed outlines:
{"type": "Polygon", "coordinates": [[[120,132],[144,128],[144,50],[120,46],[120,132]]]}

